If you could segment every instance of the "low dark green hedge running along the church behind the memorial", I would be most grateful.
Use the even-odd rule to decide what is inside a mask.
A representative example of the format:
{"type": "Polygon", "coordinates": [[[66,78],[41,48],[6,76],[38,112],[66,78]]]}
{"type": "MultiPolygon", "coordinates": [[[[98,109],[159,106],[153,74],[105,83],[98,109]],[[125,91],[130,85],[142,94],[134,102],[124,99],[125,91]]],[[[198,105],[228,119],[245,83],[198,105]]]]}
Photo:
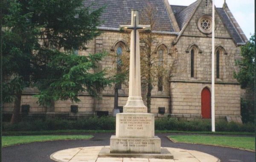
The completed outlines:
{"type": "MultiPolygon", "coordinates": [[[[47,130],[115,130],[116,118],[90,117],[77,120],[49,118],[46,120],[27,120],[14,125],[3,125],[3,131],[47,131],[47,130]]],[[[211,131],[210,121],[186,121],[175,118],[161,118],[155,120],[155,130],[169,131],[211,131]]],[[[227,123],[215,124],[216,131],[254,132],[253,123],[227,123]]]]}

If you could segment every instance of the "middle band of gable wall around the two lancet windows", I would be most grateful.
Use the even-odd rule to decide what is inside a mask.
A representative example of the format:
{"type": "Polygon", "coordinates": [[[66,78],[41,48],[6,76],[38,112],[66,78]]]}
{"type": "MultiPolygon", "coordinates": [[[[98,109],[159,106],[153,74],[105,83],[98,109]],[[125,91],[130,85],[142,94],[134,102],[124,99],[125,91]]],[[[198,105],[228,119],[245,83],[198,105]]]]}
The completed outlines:
{"type": "MultiPolygon", "coordinates": [[[[237,70],[235,61],[240,59],[240,49],[236,47],[232,39],[215,39],[215,45],[224,48],[227,54],[221,53],[220,56],[220,78],[216,81],[234,82],[233,71],[237,70]]],[[[172,80],[190,80],[190,81],[211,81],[211,63],[212,63],[212,40],[204,37],[182,36],[175,46],[178,55],[177,73],[174,74],[172,80]],[[190,45],[197,45],[198,50],[195,52],[195,77],[190,76],[190,45]],[[188,51],[186,51],[188,50],[188,51]],[[199,52],[201,50],[201,53],[199,52]]],[[[215,56],[216,59],[216,56],[215,56]]],[[[216,62],[216,61],[215,61],[216,62]]],[[[215,63],[216,64],[216,63],[215,63]]],[[[215,65],[216,75],[216,65],[215,65]]]]}

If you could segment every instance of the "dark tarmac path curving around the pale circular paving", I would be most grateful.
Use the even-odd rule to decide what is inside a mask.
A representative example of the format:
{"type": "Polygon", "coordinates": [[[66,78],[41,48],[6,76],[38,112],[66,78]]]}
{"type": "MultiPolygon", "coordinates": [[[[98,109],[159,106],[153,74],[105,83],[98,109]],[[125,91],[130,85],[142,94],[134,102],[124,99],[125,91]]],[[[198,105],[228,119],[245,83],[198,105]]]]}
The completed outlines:
{"type": "MultiPolygon", "coordinates": [[[[53,162],[49,156],[60,150],[77,147],[110,145],[112,134],[93,134],[90,140],[61,140],[49,142],[34,142],[2,148],[3,162],[53,162]]],[[[161,138],[162,147],[196,150],[221,159],[222,162],[255,162],[255,153],[234,148],[223,148],[207,145],[173,143],[166,136],[170,134],[156,134],[161,138]]]]}

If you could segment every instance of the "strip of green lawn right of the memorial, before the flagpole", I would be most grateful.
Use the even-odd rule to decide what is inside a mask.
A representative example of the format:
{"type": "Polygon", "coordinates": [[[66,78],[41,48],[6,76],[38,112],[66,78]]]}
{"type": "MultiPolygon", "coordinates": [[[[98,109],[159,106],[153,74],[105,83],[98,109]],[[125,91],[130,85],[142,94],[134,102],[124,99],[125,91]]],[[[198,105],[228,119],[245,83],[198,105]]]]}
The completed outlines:
{"type": "Polygon", "coordinates": [[[172,135],[169,136],[175,142],[189,142],[207,145],[222,145],[236,148],[255,150],[254,137],[227,137],[227,136],[204,136],[204,135],[172,135]]]}

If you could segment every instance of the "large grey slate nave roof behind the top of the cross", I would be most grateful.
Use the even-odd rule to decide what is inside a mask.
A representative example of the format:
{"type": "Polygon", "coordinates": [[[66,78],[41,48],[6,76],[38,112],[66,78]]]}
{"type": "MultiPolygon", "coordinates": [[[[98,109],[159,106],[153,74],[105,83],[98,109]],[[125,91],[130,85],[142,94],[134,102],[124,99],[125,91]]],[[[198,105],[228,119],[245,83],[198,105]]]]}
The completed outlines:
{"type": "MultiPolygon", "coordinates": [[[[153,15],[157,17],[158,22],[154,30],[175,32],[163,0],[147,1],[150,4],[153,4],[152,6],[156,7],[153,15]]],[[[105,13],[100,17],[100,20],[105,21],[101,26],[99,26],[103,28],[119,28],[119,25],[130,25],[131,10],[137,9],[141,12],[143,8],[147,7],[145,0],[85,0],[84,6],[89,6],[91,3],[96,4],[91,7],[93,9],[108,5],[105,9],[105,13]]]]}

